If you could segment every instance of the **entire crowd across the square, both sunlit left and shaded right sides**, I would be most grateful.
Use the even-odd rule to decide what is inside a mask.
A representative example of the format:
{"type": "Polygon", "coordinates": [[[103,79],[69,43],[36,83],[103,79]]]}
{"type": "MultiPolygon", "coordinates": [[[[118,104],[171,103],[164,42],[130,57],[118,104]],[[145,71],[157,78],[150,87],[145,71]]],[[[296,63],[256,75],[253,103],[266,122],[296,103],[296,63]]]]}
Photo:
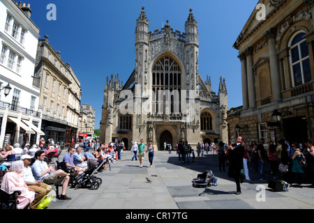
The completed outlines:
{"type": "MultiPolygon", "coordinates": [[[[11,194],[15,190],[20,190],[21,194],[17,196],[19,201],[17,208],[35,209],[40,201],[51,190],[51,185],[61,185],[61,195],[59,199],[69,200],[66,196],[66,189],[70,176],[77,176],[87,170],[87,160],[93,159],[98,163],[109,160],[111,164],[121,160],[121,153],[126,149],[123,141],[100,143],[98,140],[85,140],[77,142],[68,148],[66,155],[63,156],[63,167],[57,169],[56,166],[50,165],[47,157],[59,157],[61,148],[59,143],[54,144],[53,139],[40,139],[40,144],[35,144],[30,148],[25,144],[20,148],[20,144],[6,144],[0,153],[0,177],[1,190],[11,194]],[[50,155],[53,154],[53,155],[50,155]],[[69,170],[72,171],[69,171],[69,170]],[[35,196],[36,193],[36,196],[35,196]]],[[[165,142],[165,151],[173,151],[171,144],[165,142]]],[[[194,149],[188,144],[188,141],[179,141],[174,147],[179,155],[179,162],[194,162],[194,149]]],[[[130,149],[134,153],[132,160],[139,160],[140,168],[143,167],[143,161],[146,153],[149,160],[149,167],[152,167],[154,161],[155,148],[151,141],[140,144],[136,141],[130,149]]],[[[219,170],[225,172],[225,166],[228,165],[228,176],[234,178],[237,185],[236,194],[241,194],[240,183],[243,180],[250,181],[249,165],[253,170],[258,172],[259,179],[267,180],[264,174],[265,164],[269,164],[271,176],[274,179],[285,180],[295,187],[302,186],[304,174],[312,180],[311,187],[314,187],[314,141],[308,140],[305,145],[297,142],[290,144],[287,140],[281,139],[274,143],[270,141],[268,148],[264,146],[264,139],[260,139],[259,144],[247,141],[242,137],[237,138],[237,144],[218,145],[197,144],[197,157],[201,158],[204,153],[214,153],[218,155],[219,170]]],[[[103,171],[105,164],[98,171],[103,171]]]]}

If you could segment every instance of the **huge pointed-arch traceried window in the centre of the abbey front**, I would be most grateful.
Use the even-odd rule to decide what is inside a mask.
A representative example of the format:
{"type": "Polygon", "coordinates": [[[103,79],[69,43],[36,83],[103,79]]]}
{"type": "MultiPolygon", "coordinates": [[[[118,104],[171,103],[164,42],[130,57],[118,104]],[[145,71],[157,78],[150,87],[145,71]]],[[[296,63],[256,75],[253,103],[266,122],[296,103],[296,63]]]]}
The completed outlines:
{"type": "Polygon", "coordinates": [[[181,69],[174,59],[164,56],[152,70],[153,114],[181,114],[181,69]]]}

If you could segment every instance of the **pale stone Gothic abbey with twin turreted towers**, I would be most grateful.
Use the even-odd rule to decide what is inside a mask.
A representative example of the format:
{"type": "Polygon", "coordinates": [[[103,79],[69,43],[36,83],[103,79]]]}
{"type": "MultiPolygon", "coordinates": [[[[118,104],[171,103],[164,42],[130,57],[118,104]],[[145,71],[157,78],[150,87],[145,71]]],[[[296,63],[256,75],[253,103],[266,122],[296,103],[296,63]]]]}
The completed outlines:
{"type": "Polygon", "coordinates": [[[198,71],[199,35],[192,10],[185,32],[172,29],[149,31],[142,8],[135,29],[135,69],[125,84],[119,75],[107,77],[100,141],[152,141],[159,150],[163,143],[174,147],[179,141],[227,142],[227,88],[220,77],[218,94],[211,79],[198,71]]]}

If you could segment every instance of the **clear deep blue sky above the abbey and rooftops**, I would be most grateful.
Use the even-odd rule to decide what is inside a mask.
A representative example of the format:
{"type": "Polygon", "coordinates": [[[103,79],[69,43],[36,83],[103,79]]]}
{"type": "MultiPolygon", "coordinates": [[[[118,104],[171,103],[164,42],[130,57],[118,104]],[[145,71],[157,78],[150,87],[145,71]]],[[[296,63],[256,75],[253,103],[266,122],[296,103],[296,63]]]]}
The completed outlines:
{"type": "Polygon", "coordinates": [[[81,104],[96,109],[99,128],[106,77],[119,73],[126,83],[135,68],[135,26],[142,6],[149,31],[161,29],[166,20],[174,30],[184,32],[184,23],[193,9],[198,22],[199,72],[211,77],[218,92],[219,78],[225,77],[229,108],[243,104],[241,63],[232,47],[253,12],[257,0],[29,0],[31,20],[48,35],[50,44],[70,63],[82,88],[81,104]],[[56,6],[57,20],[47,20],[47,5],[56,6]],[[239,89],[240,88],[240,89],[239,89]]]}

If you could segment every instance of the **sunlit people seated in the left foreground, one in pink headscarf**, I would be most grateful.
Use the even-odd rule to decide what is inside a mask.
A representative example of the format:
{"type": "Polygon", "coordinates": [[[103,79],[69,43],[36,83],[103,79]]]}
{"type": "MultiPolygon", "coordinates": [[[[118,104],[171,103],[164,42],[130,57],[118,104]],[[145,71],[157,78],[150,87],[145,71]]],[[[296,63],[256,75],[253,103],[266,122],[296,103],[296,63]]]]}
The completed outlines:
{"type": "Polygon", "coordinates": [[[18,143],[13,146],[6,144],[0,153],[1,190],[7,194],[20,191],[17,195],[17,209],[36,209],[54,184],[62,185],[59,199],[70,199],[66,196],[70,174],[52,165],[48,167],[52,161],[48,157],[58,157],[61,153],[60,144],[48,141],[44,146],[34,144],[31,148],[29,144],[25,144],[24,148],[20,148],[18,143]]]}

